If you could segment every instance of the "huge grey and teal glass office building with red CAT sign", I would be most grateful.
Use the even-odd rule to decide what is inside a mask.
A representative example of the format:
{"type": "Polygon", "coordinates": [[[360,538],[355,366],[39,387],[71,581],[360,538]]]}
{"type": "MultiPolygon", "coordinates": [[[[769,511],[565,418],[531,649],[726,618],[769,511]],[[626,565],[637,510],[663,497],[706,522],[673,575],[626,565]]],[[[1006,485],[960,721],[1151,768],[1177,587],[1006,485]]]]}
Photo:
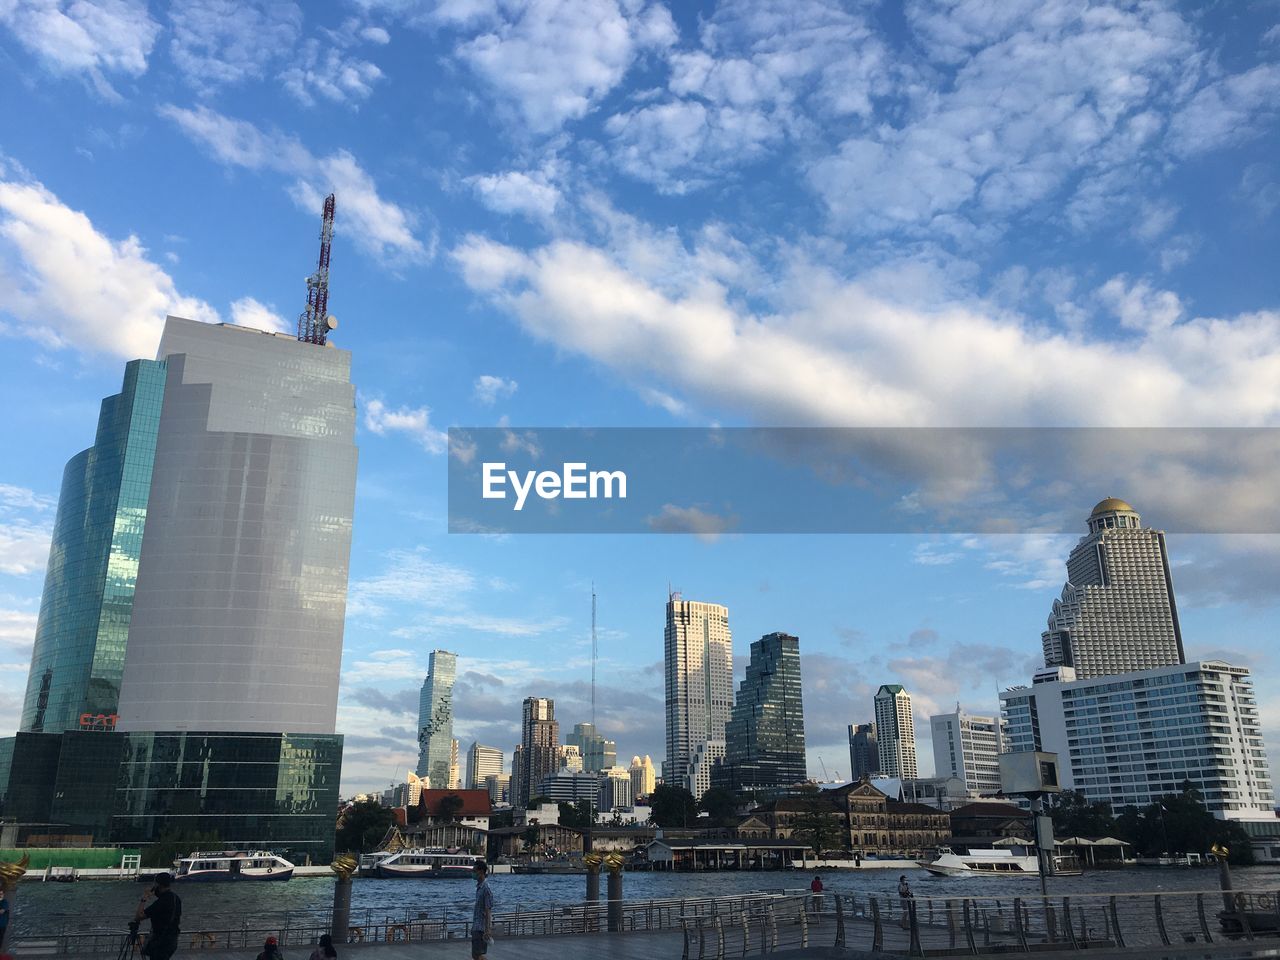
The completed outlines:
{"type": "Polygon", "coordinates": [[[169,317],[157,357],[127,365],[64,474],[0,797],[96,842],[198,829],[324,860],[342,765],[351,355],[169,317]]]}

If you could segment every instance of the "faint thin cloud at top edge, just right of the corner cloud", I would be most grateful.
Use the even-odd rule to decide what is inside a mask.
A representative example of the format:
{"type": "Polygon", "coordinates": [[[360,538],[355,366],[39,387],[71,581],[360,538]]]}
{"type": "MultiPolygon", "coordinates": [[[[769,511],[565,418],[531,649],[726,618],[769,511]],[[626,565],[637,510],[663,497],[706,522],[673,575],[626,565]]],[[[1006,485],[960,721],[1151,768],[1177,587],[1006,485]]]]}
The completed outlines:
{"type": "Polygon", "coordinates": [[[261,79],[302,32],[302,9],[292,0],[175,0],[169,19],[173,63],[202,92],[261,79]]]}

